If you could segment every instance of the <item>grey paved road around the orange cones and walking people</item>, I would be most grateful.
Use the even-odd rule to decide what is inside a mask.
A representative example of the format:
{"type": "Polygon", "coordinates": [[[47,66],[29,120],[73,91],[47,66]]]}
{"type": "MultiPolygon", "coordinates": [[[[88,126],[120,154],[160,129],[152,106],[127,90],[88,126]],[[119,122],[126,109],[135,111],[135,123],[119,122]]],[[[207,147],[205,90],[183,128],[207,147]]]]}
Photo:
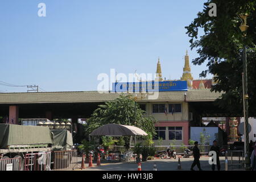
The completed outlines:
{"type": "MultiPolygon", "coordinates": [[[[211,167],[209,165],[209,157],[201,157],[200,163],[201,168],[204,171],[211,171],[211,167]]],[[[191,164],[193,162],[193,158],[181,158],[181,170],[189,171],[191,164]]],[[[158,171],[178,171],[177,163],[178,159],[155,159],[155,160],[148,160],[147,162],[142,162],[141,168],[142,171],[152,171],[154,168],[154,163],[156,163],[158,171]]],[[[220,157],[221,163],[221,171],[225,169],[225,158],[220,157]]],[[[85,164],[87,167],[88,164],[85,164]]],[[[93,164],[92,168],[83,169],[85,171],[137,171],[137,163],[102,163],[100,167],[97,167],[96,164],[93,164]]],[[[216,167],[217,168],[217,167],[216,167]]],[[[197,166],[194,168],[198,170],[197,166]]]]}

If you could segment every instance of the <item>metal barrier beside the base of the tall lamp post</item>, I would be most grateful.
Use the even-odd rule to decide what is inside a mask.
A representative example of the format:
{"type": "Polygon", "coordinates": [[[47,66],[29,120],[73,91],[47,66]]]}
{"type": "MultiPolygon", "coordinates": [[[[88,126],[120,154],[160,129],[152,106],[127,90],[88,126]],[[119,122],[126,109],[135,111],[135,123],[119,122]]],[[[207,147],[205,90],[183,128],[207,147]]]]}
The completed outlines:
{"type": "Polygon", "coordinates": [[[226,171],[243,168],[245,164],[243,151],[228,151],[226,153],[225,163],[226,171]]]}

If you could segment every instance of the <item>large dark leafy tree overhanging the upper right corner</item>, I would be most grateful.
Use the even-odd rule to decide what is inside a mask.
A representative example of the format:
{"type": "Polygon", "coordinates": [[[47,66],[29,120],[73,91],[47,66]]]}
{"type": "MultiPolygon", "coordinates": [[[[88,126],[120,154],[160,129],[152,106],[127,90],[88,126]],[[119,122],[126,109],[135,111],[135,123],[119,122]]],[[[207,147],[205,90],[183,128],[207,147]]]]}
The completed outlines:
{"type": "Polygon", "coordinates": [[[242,115],[242,61],[241,52],[243,45],[247,45],[247,75],[249,93],[249,114],[256,114],[256,1],[255,0],[209,0],[204,3],[203,11],[197,14],[187,29],[191,37],[191,49],[196,49],[199,57],[192,61],[195,65],[201,65],[207,61],[208,69],[200,76],[207,73],[217,75],[217,85],[212,91],[224,91],[222,98],[215,104],[230,113],[242,115]],[[217,17],[210,17],[208,12],[209,3],[216,3],[217,17]],[[240,14],[249,14],[247,24],[249,29],[244,38],[239,26],[240,14]],[[203,34],[199,35],[200,30],[203,34]]]}

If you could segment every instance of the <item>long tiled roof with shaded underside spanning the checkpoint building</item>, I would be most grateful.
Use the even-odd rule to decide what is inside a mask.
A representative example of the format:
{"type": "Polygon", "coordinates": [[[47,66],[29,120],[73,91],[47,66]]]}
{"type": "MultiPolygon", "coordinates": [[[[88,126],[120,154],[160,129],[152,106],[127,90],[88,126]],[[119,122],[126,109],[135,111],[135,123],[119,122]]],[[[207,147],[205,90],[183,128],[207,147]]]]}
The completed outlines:
{"type": "MultiPolygon", "coordinates": [[[[135,93],[97,91],[0,93],[0,116],[8,116],[15,124],[18,118],[89,118],[98,105],[112,101],[121,94],[135,96],[135,93]]],[[[199,114],[218,113],[223,116],[225,111],[213,105],[221,94],[210,92],[210,89],[158,92],[158,95],[146,93],[138,102],[188,102],[191,106],[189,110],[196,109],[193,112],[200,110],[199,114]]]]}

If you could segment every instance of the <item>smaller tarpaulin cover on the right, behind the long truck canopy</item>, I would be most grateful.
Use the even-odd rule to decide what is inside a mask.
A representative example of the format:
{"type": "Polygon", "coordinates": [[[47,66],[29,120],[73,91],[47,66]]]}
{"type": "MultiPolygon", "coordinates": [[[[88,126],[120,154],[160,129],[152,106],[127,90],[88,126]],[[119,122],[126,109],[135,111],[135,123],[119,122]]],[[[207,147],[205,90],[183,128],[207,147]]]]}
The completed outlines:
{"type": "Polygon", "coordinates": [[[53,133],[52,150],[71,150],[73,146],[72,134],[68,130],[51,130],[53,133]]]}

